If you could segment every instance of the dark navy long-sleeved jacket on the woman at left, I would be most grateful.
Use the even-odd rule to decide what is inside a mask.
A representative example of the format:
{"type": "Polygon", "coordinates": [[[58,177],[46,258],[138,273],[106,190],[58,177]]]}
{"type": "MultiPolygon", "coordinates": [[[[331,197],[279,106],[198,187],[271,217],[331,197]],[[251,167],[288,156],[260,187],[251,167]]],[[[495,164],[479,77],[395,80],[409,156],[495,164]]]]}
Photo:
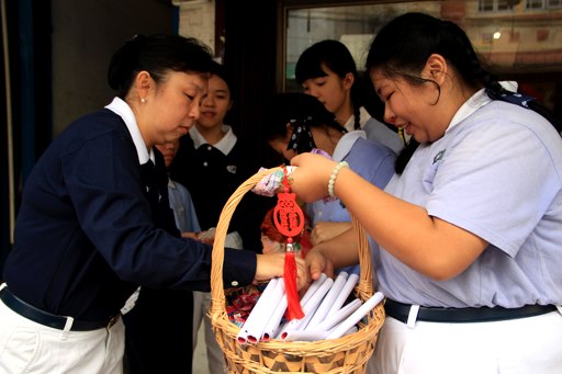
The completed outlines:
{"type": "MultiPolygon", "coordinates": [[[[256,253],[225,250],[225,286],[249,284],[255,271],[256,253]]],[[[70,124],[37,161],[3,279],[37,308],[103,320],[138,285],[209,291],[211,247],[155,226],[131,134],[104,109],[70,124]]]]}

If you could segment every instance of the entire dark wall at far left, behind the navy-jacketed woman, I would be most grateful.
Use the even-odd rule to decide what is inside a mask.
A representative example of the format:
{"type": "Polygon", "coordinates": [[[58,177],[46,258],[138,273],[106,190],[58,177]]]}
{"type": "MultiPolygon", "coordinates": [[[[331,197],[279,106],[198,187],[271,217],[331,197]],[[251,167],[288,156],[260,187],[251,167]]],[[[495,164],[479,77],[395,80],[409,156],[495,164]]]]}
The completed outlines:
{"type": "Polygon", "coordinates": [[[178,8],[169,0],[2,0],[2,19],[9,69],[0,65],[11,84],[0,99],[11,112],[0,104],[0,282],[36,159],[71,121],[111,101],[115,49],[138,33],[177,33],[178,8]]]}

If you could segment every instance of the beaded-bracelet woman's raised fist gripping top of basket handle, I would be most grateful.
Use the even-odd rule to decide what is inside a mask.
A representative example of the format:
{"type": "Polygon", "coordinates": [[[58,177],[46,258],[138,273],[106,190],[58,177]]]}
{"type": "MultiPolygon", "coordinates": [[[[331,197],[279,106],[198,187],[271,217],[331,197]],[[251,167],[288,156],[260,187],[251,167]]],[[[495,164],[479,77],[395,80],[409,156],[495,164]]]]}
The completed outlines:
{"type": "Polygon", "coordinates": [[[290,174],[291,191],[306,203],[328,195],[328,181],[337,162],[314,154],[301,154],[291,159],[297,167],[290,174]]]}

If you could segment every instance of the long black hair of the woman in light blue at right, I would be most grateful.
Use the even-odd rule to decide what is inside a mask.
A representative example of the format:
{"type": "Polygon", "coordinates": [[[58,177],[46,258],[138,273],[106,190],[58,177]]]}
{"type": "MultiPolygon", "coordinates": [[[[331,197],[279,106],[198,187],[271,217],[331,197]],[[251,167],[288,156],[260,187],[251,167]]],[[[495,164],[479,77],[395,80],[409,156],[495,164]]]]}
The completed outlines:
{"type": "MultiPolygon", "coordinates": [[[[419,76],[431,54],[443,56],[454,66],[464,83],[472,88],[485,88],[494,100],[514,103],[519,97],[505,90],[486,69],[476,55],[464,31],[450,21],[442,21],[424,13],[405,13],[389,22],[375,36],[367,56],[366,68],[369,73],[380,70],[389,78],[400,77],[413,86],[434,81],[419,76]]],[[[560,133],[562,122],[538,101],[521,101],[526,107],[544,116],[560,133]]],[[[401,173],[417,148],[418,143],[411,140],[396,159],[396,172],[401,173]]]]}

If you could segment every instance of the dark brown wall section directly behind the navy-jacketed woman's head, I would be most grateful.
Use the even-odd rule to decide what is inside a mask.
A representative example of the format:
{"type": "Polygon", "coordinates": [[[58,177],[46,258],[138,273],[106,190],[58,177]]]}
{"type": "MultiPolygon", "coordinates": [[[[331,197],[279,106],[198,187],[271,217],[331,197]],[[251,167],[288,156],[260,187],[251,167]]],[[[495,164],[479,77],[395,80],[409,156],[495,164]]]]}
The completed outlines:
{"type": "Polygon", "coordinates": [[[113,99],[110,58],[135,34],[176,33],[177,7],[157,0],[53,0],[53,133],[113,99]]]}

